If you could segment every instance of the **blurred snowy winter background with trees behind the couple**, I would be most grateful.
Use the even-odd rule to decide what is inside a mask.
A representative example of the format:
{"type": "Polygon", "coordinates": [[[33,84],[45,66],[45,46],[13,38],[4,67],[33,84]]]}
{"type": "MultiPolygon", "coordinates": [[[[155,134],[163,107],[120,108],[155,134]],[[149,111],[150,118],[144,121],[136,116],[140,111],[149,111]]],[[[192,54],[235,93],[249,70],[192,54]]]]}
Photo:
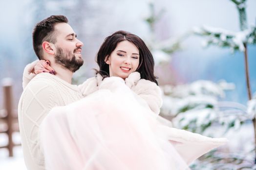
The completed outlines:
{"type": "Polygon", "coordinates": [[[155,74],[164,98],[161,116],[171,119],[177,128],[206,136],[227,136],[230,140],[228,146],[202,156],[191,168],[253,169],[255,0],[15,0],[0,3],[3,33],[0,79],[15,80],[15,106],[22,92],[23,68],[37,59],[31,33],[38,21],[50,15],[65,15],[84,42],[85,64],[74,74],[74,84],[94,75],[95,55],[105,37],[117,30],[126,30],[140,36],[154,56],[155,74]],[[201,42],[208,48],[203,48],[201,42]],[[245,56],[247,68],[243,64],[245,56]],[[249,102],[248,89],[252,91],[249,102]]]}

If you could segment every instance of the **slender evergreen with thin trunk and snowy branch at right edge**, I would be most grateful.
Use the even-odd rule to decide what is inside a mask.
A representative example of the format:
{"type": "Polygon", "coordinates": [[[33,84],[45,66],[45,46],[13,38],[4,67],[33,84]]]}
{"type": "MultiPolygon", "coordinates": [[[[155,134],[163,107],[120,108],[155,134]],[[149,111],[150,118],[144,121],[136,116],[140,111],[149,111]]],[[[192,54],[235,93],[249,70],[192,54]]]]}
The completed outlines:
{"type": "MultiPolygon", "coordinates": [[[[256,99],[252,98],[249,65],[248,65],[248,44],[256,44],[256,26],[248,27],[246,15],[246,0],[231,0],[239,14],[239,32],[232,32],[224,29],[213,27],[202,27],[194,30],[195,34],[207,37],[206,45],[216,45],[218,47],[229,47],[232,51],[242,51],[244,53],[246,87],[248,94],[248,111],[254,114],[252,121],[255,132],[255,146],[256,146],[256,99]]],[[[256,150],[255,150],[256,152],[256,150]]],[[[256,163],[256,158],[255,158],[256,163]]]]}

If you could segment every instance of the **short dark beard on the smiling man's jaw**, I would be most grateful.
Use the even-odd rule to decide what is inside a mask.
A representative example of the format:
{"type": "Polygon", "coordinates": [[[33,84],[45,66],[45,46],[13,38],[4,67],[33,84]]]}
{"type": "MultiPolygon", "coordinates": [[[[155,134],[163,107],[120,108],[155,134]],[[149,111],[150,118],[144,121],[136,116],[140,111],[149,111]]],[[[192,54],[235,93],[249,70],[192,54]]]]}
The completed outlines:
{"type": "Polygon", "coordinates": [[[57,48],[55,62],[72,72],[76,72],[84,64],[83,59],[76,59],[74,53],[72,54],[71,52],[64,53],[62,48],[57,48]],[[70,56],[72,56],[71,59],[69,59],[70,56]]]}

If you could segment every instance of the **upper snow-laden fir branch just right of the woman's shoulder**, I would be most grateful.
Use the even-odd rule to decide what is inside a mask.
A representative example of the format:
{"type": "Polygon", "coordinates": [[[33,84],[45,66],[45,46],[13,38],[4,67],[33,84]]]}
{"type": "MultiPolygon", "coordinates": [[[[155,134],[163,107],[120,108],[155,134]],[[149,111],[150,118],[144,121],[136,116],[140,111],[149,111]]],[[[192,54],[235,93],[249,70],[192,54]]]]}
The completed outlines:
{"type": "Polygon", "coordinates": [[[225,97],[224,91],[234,89],[235,85],[224,80],[218,84],[198,80],[187,85],[165,85],[161,88],[164,93],[161,113],[175,116],[194,108],[213,108],[218,98],[225,97]]]}

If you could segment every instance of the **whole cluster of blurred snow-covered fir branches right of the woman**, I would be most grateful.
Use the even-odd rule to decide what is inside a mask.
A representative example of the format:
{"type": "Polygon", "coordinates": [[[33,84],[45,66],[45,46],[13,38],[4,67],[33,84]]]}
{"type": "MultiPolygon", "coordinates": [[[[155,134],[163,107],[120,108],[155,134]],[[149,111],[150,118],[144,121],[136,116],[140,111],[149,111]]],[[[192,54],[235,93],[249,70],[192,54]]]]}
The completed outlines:
{"type": "Polygon", "coordinates": [[[218,84],[199,80],[188,85],[165,85],[161,114],[175,117],[175,127],[201,134],[213,124],[222,125],[224,133],[230,128],[237,130],[255,114],[247,112],[243,104],[219,102],[219,98],[225,97],[225,90],[234,88],[233,83],[224,80],[218,84]]]}

